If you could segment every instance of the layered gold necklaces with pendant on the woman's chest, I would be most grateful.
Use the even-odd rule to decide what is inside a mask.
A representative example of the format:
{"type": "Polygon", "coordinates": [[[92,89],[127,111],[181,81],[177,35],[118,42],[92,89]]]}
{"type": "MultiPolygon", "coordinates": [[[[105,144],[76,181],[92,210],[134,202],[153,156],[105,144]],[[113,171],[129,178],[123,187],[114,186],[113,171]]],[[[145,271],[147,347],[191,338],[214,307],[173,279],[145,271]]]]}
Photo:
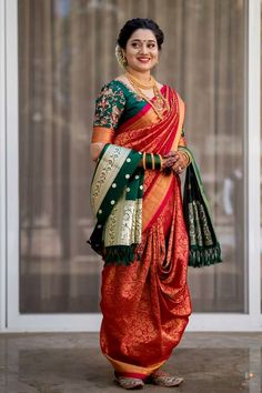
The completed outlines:
{"type": "Polygon", "coordinates": [[[163,97],[161,93],[155,79],[153,77],[150,77],[150,82],[144,84],[140,82],[139,79],[134,78],[130,72],[125,72],[125,77],[128,78],[130,84],[134,89],[134,91],[144,100],[147,101],[154,112],[158,114],[160,119],[163,119],[163,111],[167,109],[168,111],[170,110],[169,101],[163,97]],[[149,87],[150,85],[150,87],[149,87]],[[154,98],[155,100],[152,101],[148,95],[145,95],[141,89],[143,90],[150,90],[153,89],[154,98]]]}

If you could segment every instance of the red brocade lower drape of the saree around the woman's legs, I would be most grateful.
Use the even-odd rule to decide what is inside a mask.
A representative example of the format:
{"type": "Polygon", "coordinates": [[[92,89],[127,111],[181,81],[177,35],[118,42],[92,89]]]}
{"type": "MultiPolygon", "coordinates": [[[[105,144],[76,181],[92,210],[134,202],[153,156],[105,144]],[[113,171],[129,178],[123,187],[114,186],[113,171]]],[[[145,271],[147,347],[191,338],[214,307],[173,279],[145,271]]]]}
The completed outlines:
{"type": "Polygon", "coordinates": [[[164,210],[143,233],[141,260],[102,272],[101,349],[117,371],[145,376],[170,356],[188,324],[188,234],[179,179],[164,210]],[[121,362],[121,367],[119,367],[121,362]],[[120,370],[121,369],[121,370],[120,370]]]}

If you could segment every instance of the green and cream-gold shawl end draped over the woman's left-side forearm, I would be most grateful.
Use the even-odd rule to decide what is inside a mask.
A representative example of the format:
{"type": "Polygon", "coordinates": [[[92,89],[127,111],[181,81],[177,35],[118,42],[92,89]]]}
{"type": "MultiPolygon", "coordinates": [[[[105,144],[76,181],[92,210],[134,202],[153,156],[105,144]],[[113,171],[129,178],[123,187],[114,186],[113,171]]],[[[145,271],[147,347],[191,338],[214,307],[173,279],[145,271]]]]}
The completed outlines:
{"type": "MultiPolygon", "coordinates": [[[[91,183],[91,206],[97,218],[88,241],[105,264],[129,265],[142,238],[144,171],[140,152],[105,144],[91,183]]],[[[137,255],[139,256],[139,255],[137,255]]]]}

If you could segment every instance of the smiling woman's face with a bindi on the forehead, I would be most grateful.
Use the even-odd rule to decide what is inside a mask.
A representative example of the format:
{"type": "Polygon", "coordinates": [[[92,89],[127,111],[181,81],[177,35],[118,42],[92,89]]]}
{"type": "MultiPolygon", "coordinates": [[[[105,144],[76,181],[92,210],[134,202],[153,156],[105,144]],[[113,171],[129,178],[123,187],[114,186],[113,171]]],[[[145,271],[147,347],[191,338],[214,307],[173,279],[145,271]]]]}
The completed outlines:
{"type": "Polygon", "coordinates": [[[150,71],[159,60],[159,48],[154,33],[149,29],[135,30],[127,42],[124,56],[128,70],[150,71]]]}

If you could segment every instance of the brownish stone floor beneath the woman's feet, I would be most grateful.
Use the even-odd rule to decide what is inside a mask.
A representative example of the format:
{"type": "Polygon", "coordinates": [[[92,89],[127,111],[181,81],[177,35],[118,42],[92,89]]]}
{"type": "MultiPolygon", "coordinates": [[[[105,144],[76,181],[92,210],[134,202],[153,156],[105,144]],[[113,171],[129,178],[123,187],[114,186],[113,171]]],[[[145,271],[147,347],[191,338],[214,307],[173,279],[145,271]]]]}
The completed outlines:
{"type": "MultiPolygon", "coordinates": [[[[165,365],[180,387],[147,384],[144,392],[260,393],[262,333],[187,333],[165,365]]],[[[123,392],[99,350],[95,333],[1,334],[1,393],[123,392]]]]}

